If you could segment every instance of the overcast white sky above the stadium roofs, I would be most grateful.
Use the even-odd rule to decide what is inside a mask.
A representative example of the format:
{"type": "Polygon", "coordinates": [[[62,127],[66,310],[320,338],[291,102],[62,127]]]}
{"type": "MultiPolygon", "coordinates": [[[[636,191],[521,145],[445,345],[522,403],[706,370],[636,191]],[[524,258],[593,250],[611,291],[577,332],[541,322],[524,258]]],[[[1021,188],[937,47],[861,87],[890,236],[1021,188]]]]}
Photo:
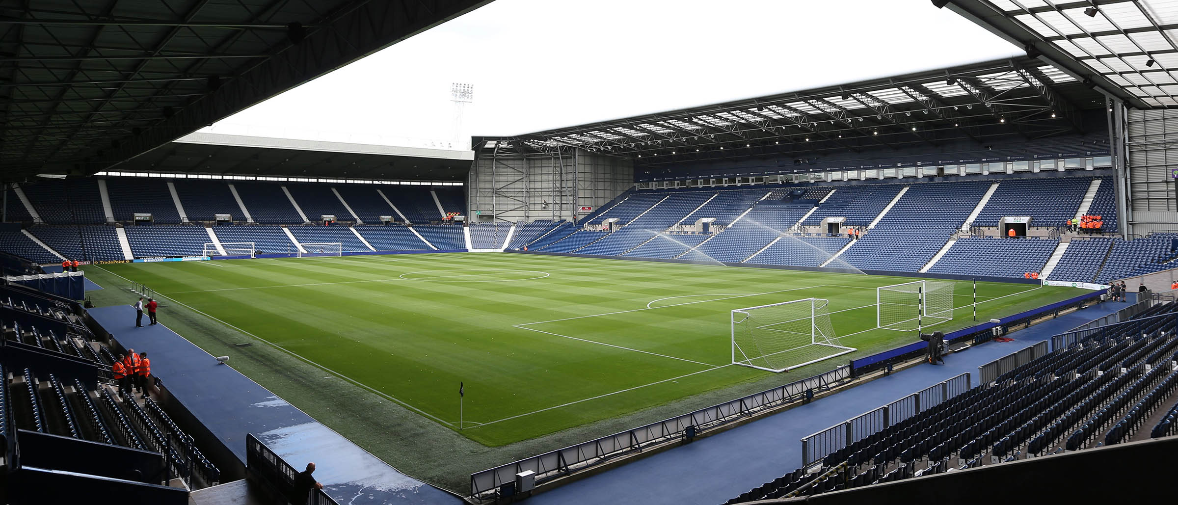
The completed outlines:
{"type": "Polygon", "coordinates": [[[1019,53],[928,0],[496,0],[203,132],[466,148],[1019,53]]]}

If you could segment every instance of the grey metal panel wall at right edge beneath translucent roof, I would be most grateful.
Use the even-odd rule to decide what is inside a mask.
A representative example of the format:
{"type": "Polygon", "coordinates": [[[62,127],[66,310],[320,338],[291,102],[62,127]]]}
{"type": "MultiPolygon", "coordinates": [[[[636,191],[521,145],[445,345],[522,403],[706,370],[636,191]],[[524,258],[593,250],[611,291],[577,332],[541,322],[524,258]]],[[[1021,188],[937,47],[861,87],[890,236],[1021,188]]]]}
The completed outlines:
{"type": "MultiPolygon", "coordinates": [[[[1178,211],[1174,180],[1178,168],[1178,111],[1129,111],[1129,179],[1133,222],[1150,222],[1144,212],[1178,211]]],[[[1170,228],[1173,228],[1171,226],[1170,228]]],[[[1154,226],[1134,226],[1133,233],[1147,234],[1154,226]]]]}

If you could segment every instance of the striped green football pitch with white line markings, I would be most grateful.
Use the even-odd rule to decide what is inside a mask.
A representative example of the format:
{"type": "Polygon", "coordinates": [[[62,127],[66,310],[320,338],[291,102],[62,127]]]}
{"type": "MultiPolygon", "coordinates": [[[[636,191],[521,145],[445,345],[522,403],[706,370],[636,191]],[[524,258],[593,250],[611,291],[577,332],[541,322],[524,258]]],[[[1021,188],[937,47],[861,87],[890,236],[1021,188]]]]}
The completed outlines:
{"type": "MultiPolygon", "coordinates": [[[[765,378],[730,364],[734,308],[829,300],[834,331],[858,351],[781,384],[915,340],[875,327],[875,288],[913,280],[899,277],[512,253],[99,268],[154,290],[164,324],[170,306],[198,312],[456,431],[462,383],[461,433],[488,446],[765,378]]],[[[1080,293],[979,283],[978,320],[1080,293]]],[[[969,281],[954,300],[937,330],[973,324],[969,281]]]]}

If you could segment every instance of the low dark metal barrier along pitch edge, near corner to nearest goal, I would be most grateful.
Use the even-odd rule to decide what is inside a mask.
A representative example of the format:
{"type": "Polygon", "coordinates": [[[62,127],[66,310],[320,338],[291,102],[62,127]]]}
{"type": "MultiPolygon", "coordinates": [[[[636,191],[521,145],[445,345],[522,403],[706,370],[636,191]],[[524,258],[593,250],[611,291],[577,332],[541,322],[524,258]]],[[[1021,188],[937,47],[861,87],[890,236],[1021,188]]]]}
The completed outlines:
{"type": "Polygon", "coordinates": [[[623,454],[642,451],[643,447],[688,436],[694,437],[766,408],[812,398],[814,392],[829,390],[849,379],[851,368],[840,366],[819,376],[700,408],[695,412],[471,473],[470,494],[479,501],[497,498],[501,486],[515,483],[516,473],[529,470],[535,472],[538,485],[623,454]]]}

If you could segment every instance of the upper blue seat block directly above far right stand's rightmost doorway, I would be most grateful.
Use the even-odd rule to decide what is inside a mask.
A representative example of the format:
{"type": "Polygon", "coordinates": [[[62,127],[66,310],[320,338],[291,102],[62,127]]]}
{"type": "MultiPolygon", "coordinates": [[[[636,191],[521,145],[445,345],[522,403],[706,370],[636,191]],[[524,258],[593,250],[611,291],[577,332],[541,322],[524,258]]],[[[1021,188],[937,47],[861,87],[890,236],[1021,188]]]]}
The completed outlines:
{"type": "Polygon", "coordinates": [[[1030,215],[1033,226],[1064,226],[1076,217],[1092,178],[1012,179],[1001,181],[975,225],[998,226],[1007,215],[1030,215]]]}

